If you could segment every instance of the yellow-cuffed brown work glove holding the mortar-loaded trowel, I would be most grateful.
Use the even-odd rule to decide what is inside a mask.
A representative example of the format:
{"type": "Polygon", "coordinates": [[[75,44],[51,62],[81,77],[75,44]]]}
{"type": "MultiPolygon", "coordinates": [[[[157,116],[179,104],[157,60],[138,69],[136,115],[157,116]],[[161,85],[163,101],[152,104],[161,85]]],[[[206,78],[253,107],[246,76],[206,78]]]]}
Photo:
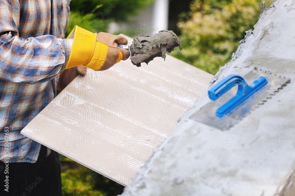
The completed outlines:
{"type": "Polygon", "coordinates": [[[75,26],[68,38],[74,40],[66,69],[83,65],[95,71],[104,71],[119,61],[128,59],[130,55],[128,50],[117,47],[117,44],[128,43],[123,36],[91,33],[75,26]]]}

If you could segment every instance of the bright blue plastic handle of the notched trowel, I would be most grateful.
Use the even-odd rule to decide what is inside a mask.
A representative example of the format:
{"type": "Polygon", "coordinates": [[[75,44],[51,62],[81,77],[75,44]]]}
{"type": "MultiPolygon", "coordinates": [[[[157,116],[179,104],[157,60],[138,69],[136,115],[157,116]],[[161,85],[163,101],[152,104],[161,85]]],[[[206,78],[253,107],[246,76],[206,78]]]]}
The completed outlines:
{"type": "Polygon", "coordinates": [[[223,117],[266,84],[267,80],[264,77],[259,77],[248,85],[242,76],[236,74],[227,76],[208,91],[209,98],[215,101],[236,85],[238,91],[236,96],[216,110],[216,116],[223,117]]]}

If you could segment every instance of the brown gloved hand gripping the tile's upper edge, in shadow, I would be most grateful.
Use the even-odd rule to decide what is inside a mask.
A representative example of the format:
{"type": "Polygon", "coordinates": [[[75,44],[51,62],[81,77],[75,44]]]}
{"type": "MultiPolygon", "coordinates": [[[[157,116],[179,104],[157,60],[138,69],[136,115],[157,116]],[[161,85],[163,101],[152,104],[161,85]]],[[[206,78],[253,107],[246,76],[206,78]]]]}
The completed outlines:
{"type": "Polygon", "coordinates": [[[79,65],[77,67],[72,67],[72,68],[63,70],[62,72],[60,72],[60,75],[59,75],[57,90],[62,91],[78,75],[85,76],[86,72],[87,72],[87,67],[83,65],[79,65]]]}

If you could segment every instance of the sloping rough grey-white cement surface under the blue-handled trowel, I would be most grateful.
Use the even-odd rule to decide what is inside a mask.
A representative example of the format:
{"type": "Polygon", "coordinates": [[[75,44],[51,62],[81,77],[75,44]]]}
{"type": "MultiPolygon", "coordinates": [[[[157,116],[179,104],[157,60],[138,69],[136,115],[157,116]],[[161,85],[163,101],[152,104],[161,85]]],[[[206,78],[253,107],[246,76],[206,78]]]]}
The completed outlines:
{"type": "Polygon", "coordinates": [[[122,196],[295,195],[295,2],[276,0],[262,10],[210,86],[255,67],[291,82],[227,131],[189,119],[207,103],[204,93],[122,196]]]}

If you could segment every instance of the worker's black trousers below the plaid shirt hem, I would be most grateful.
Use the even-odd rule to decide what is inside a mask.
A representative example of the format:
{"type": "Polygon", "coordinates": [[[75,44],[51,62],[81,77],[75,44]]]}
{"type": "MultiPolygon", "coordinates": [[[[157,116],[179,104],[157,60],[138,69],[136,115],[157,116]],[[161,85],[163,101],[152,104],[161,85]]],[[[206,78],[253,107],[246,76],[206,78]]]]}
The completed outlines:
{"type": "Polygon", "coordinates": [[[0,161],[0,195],[9,196],[61,196],[61,178],[58,153],[41,146],[36,163],[9,163],[5,174],[5,163],[0,161]],[[9,176],[9,192],[4,180],[9,176]]]}

